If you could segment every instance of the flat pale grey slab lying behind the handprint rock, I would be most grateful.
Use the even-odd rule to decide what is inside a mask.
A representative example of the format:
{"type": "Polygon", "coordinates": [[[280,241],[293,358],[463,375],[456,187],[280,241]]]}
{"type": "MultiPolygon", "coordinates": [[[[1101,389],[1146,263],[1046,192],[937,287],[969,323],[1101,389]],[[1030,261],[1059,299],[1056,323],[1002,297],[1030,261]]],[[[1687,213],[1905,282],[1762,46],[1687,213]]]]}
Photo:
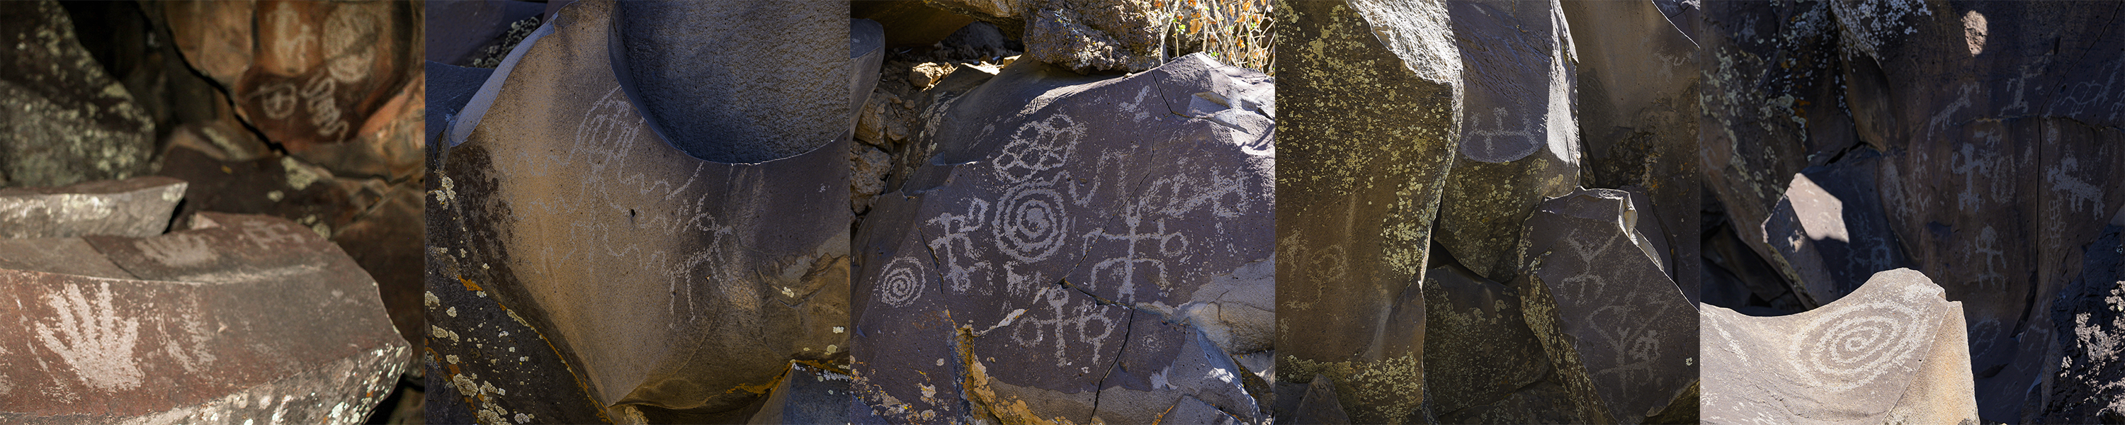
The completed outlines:
{"type": "Polygon", "coordinates": [[[185,181],[168,176],[8,187],[0,189],[0,238],[157,236],[183,196],[185,181]]]}

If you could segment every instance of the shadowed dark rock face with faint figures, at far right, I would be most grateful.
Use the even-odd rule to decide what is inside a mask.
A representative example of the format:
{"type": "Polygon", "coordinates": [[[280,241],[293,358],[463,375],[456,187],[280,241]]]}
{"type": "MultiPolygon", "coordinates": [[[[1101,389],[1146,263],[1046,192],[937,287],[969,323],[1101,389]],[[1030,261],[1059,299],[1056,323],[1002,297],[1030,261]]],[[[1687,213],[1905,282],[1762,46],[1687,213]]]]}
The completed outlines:
{"type": "MultiPolygon", "coordinates": [[[[2125,204],[2110,4],[1836,4],[1855,132],[1915,268],[1964,300],[1978,410],[2021,421],[2051,302],[2125,204]]],[[[2076,419],[2076,421],[2097,421],[2076,419]]]]}

